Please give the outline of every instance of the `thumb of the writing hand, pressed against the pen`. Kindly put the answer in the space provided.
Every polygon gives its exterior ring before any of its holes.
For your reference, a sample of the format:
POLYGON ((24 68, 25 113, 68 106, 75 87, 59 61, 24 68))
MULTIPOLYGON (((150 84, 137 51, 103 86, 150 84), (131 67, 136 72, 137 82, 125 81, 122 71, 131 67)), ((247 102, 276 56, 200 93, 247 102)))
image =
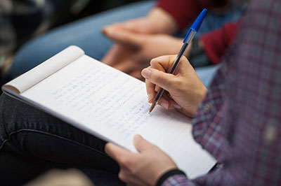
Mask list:
POLYGON ((158 71, 157 69, 145 68, 141 71, 143 78, 149 80, 151 83, 162 87, 164 90, 171 90, 172 85, 174 85, 175 76, 171 73, 164 73, 163 71, 158 71))

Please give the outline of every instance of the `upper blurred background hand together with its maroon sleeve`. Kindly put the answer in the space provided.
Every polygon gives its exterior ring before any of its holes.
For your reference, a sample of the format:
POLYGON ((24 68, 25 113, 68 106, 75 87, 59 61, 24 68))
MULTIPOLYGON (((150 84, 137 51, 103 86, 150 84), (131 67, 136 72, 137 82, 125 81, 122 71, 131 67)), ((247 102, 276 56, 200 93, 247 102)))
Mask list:
POLYGON ((110 27, 122 27, 143 34, 175 34, 179 29, 185 29, 203 8, 223 7, 228 0, 220 3, 214 0, 159 0, 156 6, 145 17, 128 20, 110 27))

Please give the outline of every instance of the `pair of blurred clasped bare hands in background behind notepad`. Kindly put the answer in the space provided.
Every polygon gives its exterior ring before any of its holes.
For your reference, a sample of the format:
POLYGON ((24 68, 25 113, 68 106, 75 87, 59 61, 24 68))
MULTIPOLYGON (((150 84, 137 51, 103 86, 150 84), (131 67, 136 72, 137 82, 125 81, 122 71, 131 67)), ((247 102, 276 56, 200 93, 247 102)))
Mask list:
POLYGON ((177 30, 174 18, 161 8, 153 8, 146 17, 109 25, 103 33, 115 44, 102 62, 143 80, 141 70, 150 59, 181 49, 182 39, 170 36, 177 30))

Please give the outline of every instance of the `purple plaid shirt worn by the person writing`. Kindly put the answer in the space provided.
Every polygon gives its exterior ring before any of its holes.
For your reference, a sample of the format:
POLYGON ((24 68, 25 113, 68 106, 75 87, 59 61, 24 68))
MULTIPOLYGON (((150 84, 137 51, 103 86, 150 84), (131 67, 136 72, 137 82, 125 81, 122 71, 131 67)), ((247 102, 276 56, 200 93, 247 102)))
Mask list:
POLYGON ((221 169, 162 185, 281 185, 281 1, 253 0, 193 119, 221 169))

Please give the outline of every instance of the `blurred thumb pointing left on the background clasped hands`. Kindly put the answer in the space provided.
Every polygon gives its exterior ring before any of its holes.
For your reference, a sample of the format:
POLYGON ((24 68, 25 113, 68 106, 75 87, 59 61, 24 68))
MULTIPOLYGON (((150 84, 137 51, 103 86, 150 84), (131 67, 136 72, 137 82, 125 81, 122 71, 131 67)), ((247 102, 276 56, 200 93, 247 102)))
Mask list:
POLYGON ((141 45, 141 34, 136 34, 128 29, 107 27, 103 33, 113 41, 130 45, 141 45))

